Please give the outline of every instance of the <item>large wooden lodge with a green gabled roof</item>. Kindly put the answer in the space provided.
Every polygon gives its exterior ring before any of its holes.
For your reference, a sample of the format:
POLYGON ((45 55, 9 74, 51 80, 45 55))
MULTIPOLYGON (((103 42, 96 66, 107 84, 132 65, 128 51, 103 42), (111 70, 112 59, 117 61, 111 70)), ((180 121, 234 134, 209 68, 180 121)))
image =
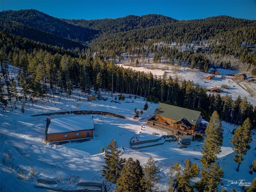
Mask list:
POLYGON ((169 125, 174 129, 196 131, 202 123, 203 114, 200 111, 160 103, 156 108, 155 120, 169 125))

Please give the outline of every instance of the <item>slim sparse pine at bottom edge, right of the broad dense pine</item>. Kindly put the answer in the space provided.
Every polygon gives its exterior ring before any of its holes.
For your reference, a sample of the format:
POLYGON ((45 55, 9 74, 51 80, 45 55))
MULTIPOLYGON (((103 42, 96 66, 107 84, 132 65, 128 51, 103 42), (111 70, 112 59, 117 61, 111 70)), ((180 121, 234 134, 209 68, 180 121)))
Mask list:
POLYGON ((144 188, 146 192, 156 191, 156 182, 160 179, 159 167, 156 166, 156 161, 150 156, 146 162, 144 169, 144 188))

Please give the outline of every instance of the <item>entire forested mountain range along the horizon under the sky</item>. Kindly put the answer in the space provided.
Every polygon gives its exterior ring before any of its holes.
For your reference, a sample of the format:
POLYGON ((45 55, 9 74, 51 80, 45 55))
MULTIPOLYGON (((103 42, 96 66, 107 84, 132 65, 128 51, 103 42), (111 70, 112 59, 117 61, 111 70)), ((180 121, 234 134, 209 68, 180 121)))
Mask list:
MULTIPOLYGON (((37 10, 8 10, 0 12, 0 22, 1 31, 71 50, 76 47, 89 48, 90 52, 100 50, 105 58, 134 49, 142 52, 145 46, 149 51, 159 42, 207 43, 210 53, 239 57, 240 54, 253 52, 244 51, 242 45, 256 44, 256 21, 229 16, 178 21, 148 14, 116 19, 68 20, 54 18, 37 10)), ((161 50, 161 54, 167 53, 161 50)), ((255 59, 244 60, 255 65, 255 59)))

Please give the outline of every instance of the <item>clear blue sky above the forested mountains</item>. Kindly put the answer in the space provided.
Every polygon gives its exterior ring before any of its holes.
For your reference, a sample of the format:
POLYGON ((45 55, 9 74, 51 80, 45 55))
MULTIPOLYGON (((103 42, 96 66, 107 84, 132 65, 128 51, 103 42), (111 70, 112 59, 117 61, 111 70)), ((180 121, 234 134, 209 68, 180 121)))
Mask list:
POLYGON ((226 15, 256 20, 256 0, 0 0, 0 11, 36 9, 56 18, 161 14, 178 20, 226 15))

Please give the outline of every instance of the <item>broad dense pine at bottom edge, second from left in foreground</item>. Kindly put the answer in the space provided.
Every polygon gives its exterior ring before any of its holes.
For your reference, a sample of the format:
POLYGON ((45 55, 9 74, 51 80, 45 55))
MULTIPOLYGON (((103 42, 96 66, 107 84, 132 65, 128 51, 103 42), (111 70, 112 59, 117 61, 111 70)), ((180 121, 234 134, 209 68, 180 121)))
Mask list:
POLYGON ((143 171, 138 160, 129 158, 118 178, 116 192, 144 192, 143 171))

